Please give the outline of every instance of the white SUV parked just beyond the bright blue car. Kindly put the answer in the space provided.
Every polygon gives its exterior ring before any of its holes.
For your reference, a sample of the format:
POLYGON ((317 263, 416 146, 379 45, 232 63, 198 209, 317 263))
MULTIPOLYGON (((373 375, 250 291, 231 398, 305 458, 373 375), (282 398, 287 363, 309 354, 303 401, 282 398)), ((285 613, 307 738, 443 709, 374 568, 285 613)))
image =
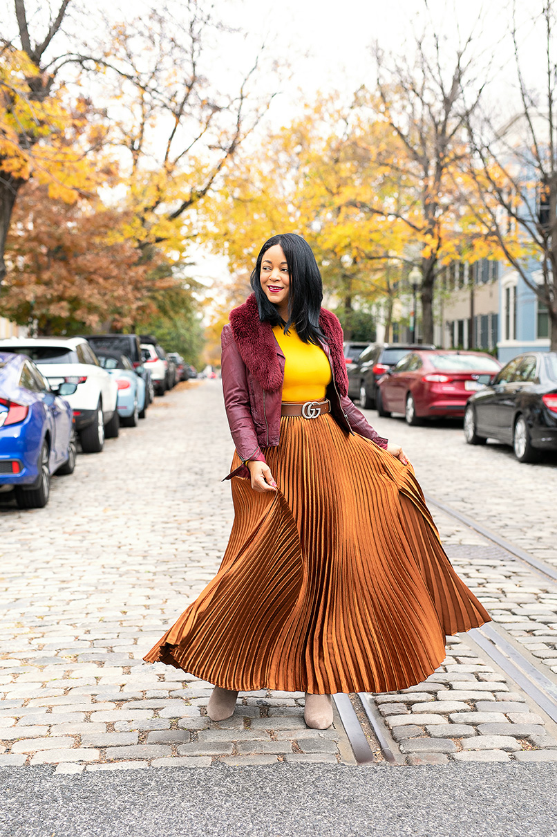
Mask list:
POLYGON ((0 340, 0 351, 27 355, 54 386, 77 384, 75 393, 64 398, 74 411, 84 453, 99 453, 105 436, 118 435, 118 385, 83 337, 9 337, 0 340))

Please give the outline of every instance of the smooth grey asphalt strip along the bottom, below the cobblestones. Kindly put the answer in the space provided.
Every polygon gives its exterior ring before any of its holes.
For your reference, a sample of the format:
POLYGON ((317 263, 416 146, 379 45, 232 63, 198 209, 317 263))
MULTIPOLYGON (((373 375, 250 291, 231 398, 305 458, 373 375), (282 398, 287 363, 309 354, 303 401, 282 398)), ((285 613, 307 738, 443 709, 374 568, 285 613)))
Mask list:
POLYGON ((0 771, 9 837, 552 837, 557 765, 0 771))

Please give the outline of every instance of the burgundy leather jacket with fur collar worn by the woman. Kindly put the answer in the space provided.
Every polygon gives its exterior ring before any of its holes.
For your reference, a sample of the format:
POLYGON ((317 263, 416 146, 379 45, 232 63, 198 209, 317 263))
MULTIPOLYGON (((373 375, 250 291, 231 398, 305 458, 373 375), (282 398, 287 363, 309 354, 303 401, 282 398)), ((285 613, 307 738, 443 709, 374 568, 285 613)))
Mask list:
MULTIPOLYGON (((319 315, 327 342, 319 345, 329 358, 332 382, 327 388, 331 413, 348 433, 358 433, 386 448, 383 439, 365 420, 347 396, 348 377, 343 352, 343 334, 334 314, 319 315)), ((230 313, 222 329, 222 390, 228 424, 240 460, 265 461, 262 448, 279 444, 284 354, 272 326, 259 320, 255 296, 230 313)), ((309 419, 310 420, 310 419, 309 419)), ((249 476, 243 464, 227 476, 249 476)))

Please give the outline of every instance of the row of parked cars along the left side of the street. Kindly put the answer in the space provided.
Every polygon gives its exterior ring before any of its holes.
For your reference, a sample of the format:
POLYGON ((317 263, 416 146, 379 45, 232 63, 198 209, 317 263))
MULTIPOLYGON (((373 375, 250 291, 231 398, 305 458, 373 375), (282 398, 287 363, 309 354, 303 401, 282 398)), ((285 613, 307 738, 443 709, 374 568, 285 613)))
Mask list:
POLYGON ((0 340, 0 491, 14 490, 20 508, 49 500, 50 477, 71 474, 77 441, 100 453, 120 425, 146 418, 155 391, 163 395, 192 376, 177 355, 151 336, 105 334, 0 340), (164 365, 151 377, 142 346, 164 365), (176 361, 179 361, 176 363, 176 361), (162 382, 162 383, 161 383, 162 382))

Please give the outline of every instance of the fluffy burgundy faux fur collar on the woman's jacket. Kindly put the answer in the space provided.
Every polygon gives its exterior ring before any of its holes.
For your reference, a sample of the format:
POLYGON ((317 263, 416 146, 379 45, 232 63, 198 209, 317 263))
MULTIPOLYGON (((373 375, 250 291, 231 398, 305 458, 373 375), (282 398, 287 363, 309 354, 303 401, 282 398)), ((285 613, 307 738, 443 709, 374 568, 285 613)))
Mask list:
MULTIPOLYGON (((280 368, 277 352, 279 344, 274 338, 273 328, 268 322, 259 320, 258 304, 255 295, 248 296, 242 306, 230 312, 230 326, 238 352, 253 377, 268 393, 273 393, 283 385, 283 372, 280 368)), ((335 372, 335 383, 340 395, 348 393, 343 334, 340 322, 330 311, 322 308, 319 313, 319 326, 327 338, 330 359, 335 372)))

